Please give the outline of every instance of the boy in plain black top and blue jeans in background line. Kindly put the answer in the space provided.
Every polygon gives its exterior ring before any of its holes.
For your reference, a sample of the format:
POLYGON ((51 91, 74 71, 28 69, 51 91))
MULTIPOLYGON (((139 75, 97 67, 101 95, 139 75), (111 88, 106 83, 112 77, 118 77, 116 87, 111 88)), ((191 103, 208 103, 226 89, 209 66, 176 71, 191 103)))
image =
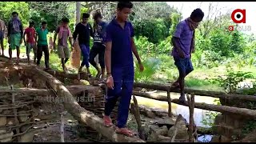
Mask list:
POLYGON ((90 18, 90 14, 82 14, 82 22, 79 22, 77 26, 75 26, 73 38, 74 42, 78 36, 78 43, 82 52, 82 63, 78 69, 78 73, 82 72, 82 67, 86 65, 87 74, 90 76, 89 70, 89 54, 90 54, 90 36, 94 36, 94 32, 90 23, 88 22, 90 18))

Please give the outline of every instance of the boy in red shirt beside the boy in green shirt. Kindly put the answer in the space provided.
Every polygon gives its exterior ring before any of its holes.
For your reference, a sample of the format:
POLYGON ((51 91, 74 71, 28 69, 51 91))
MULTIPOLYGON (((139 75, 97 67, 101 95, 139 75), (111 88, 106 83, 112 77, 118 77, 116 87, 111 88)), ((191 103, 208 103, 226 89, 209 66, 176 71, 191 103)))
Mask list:
POLYGON ((33 48, 34 64, 35 64, 36 58, 37 58, 37 50, 36 50, 36 46, 35 46, 36 34, 35 34, 35 30, 34 30, 34 22, 30 22, 30 26, 28 28, 26 28, 23 38, 24 38, 24 43, 26 46, 27 62, 28 62, 28 64, 30 64, 30 50, 31 50, 31 48, 33 48))

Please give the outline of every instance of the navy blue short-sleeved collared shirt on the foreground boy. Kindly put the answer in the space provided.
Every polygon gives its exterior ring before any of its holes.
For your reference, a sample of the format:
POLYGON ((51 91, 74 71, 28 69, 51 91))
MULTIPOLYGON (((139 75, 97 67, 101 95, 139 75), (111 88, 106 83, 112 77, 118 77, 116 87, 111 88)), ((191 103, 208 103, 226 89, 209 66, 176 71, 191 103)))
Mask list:
POLYGON ((134 66, 131 49, 131 37, 134 37, 134 27, 130 22, 125 22, 124 29, 116 19, 106 27, 104 42, 112 42, 111 67, 134 66))

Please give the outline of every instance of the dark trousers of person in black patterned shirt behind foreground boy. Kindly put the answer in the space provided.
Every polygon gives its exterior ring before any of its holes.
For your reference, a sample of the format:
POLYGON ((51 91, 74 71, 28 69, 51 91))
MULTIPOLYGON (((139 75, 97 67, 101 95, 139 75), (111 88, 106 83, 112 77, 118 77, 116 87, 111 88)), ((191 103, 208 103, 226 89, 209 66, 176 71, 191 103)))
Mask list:
POLYGON ((98 62, 100 66, 102 67, 102 69, 105 69, 105 62, 104 62, 105 46, 99 42, 95 42, 94 46, 90 49, 89 62, 94 67, 97 66, 96 62, 94 61, 94 58, 97 56, 97 54, 98 54, 98 62))

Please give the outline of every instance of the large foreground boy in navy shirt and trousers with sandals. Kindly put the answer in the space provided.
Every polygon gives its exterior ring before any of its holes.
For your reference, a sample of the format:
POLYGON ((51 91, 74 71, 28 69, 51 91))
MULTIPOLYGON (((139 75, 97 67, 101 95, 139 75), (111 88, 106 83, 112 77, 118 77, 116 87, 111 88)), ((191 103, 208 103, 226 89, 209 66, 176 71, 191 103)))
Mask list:
POLYGON ((133 53, 138 60, 140 70, 144 69, 134 44, 134 27, 127 22, 132 7, 131 2, 118 2, 117 16, 106 27, 105 38, 106 86, 108 90, 103 121, 105 126, 112 126, 110 113, 114 109, 118 97, 121 97, 116 132, 127 136, 134 135, 126 128, 130 98, 134 87, 133 53))

